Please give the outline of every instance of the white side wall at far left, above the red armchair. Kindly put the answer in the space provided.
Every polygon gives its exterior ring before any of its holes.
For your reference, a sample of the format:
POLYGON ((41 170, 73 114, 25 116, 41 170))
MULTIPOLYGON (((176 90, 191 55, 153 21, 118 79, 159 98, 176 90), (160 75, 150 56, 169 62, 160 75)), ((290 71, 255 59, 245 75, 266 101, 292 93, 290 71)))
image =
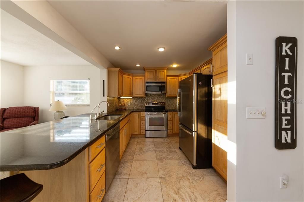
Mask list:
POLYGON ((23 106, 23 67, 1 60, 1 107, 23 106))

